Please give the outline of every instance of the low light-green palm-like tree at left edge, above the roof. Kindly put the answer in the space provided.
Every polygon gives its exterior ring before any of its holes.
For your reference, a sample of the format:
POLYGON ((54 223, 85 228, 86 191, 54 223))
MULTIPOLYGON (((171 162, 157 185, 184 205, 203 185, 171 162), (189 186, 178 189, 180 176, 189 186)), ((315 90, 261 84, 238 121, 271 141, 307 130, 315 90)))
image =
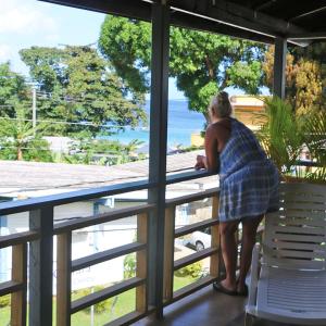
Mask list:
POLYGON ((51 162, 49 145, 41 138, 47 126, 33 128, 21 103, 15 103, 14 111, 15 117, 0 117, 0 159, 51 162))

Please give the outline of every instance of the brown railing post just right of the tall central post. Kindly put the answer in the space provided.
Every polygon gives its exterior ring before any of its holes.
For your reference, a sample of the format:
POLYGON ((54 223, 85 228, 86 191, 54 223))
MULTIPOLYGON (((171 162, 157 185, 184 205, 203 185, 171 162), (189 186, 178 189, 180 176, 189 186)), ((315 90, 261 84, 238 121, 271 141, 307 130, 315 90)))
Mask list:
POLYGON ((163 300, 173 299, 175 206, 165 210, 163 300))

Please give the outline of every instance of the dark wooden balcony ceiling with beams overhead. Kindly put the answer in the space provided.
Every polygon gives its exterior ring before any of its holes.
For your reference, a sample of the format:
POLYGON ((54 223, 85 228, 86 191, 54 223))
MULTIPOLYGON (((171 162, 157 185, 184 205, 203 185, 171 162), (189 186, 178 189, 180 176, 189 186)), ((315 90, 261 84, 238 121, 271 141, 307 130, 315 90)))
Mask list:
MULTIPOLYGON (((152 0, 41 0, 150 21, 152 0)), ((176 26, 274 42, 285 37, 304 46, 326 38, 326 0, 171 0, 176 26)))

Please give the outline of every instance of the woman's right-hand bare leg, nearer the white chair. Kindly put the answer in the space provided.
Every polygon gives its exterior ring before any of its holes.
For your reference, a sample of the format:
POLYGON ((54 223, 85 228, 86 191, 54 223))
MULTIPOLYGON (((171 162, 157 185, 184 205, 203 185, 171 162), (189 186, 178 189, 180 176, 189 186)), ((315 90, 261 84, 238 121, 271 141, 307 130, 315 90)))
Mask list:
POLYGON ((240 273, 238 278, 237 290, 244 290, 246 276, 251 265, 252 249, 255 243, 256 229, 263 220, 263 215, 254 218, 243 218, 242 222, 242 242, 240 256, 240 273))

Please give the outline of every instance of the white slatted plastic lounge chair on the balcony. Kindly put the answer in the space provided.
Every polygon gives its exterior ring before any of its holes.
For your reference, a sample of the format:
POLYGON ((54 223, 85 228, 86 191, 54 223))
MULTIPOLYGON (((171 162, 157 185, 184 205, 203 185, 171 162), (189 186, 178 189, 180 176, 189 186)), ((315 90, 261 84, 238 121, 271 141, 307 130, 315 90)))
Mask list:
POLYGON ((246 326, 254 317, 326 325, 326 186, 280 185, 280 210, 265 218, 252 254, 246 326))

